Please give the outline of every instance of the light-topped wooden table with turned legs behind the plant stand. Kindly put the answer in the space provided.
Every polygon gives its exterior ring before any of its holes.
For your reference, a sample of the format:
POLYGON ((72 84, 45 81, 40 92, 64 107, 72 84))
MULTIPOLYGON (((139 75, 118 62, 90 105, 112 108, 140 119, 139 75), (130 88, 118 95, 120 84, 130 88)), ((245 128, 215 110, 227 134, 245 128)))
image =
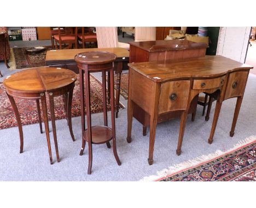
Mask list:
MULTIPOLYGON (((74 71, 79 74, 77 62, 74 57, 78 53, 91 52, 91 51, 106 51, 117 55, 117 59, 114 60, 114 70, 117 73, 117 93, 115 102, 115 118, 118 118, 119 112, 119 97, 120 97, 120 84, 121 73, 123 69, 127 68, 129 62, 129 51, 125 48, 80 48, 80 49, 64 49, 64 50, 50 50, 46 52, 46 65, 57 68, 65 68, 74 71)), ((110 82, 108 72, 108 103, 110 102, 110 82)))

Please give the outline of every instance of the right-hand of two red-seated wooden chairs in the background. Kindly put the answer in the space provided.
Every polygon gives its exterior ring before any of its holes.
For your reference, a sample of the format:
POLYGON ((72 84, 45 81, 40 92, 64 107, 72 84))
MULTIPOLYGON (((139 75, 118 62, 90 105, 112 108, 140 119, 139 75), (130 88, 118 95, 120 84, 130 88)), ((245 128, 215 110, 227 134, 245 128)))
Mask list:
POLYGON ((94 42, 94 47, 97 47, 97 35, 93 32, 94 27, 88 27, 88 30, 85 30, 85 27, 82 27, 82 33, 78 33, 78 27, 75 27, 75 33, 77 34, 78 40, 82 42, 83 48, 85 48, 86 42, 94 42))

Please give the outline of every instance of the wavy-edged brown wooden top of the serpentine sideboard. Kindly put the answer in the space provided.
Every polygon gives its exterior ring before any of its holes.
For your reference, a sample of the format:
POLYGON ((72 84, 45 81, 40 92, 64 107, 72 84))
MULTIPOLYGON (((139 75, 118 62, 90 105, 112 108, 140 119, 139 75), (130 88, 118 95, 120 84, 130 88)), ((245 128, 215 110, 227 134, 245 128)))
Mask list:
POLYGON ((211 78, 227 72, 253 69, 253 66, 236 62, 222 56, 205 56, 183 60, 143 62, 128 64, 133 70, 154 82, 165 82, 181 78, 211 78))

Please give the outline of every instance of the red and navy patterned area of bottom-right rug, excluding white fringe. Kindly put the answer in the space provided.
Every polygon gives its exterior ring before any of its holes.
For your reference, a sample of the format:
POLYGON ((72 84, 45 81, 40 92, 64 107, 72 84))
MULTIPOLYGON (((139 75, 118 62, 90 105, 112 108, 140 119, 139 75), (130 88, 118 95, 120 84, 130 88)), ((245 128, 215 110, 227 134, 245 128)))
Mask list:
POLYGON ((256 141, 158 181, 256 181, 256 141))

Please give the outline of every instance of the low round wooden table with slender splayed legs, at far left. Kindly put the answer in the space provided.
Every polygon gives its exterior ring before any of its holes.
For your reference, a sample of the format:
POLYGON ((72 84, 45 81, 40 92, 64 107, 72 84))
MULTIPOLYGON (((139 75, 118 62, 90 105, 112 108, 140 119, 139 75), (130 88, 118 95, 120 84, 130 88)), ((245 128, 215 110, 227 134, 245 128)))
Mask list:
POLYGON ((16 106, 16 103, 14 101, 14 97, 36 100, 40 132, 43 133, 42 119, 40 116, 40 105, 39 105, 39 100, 41 100, 43 117, 44 117, 44 125, 45 125, 45 133, 46 133, 46 139, 48 143, 48 150, 49 150, 49 156, 50 156, 50 163, 53 164, 53 157, 51 155, 46 96, 45 96, 45 94, 48 93, 49 100, 50 100, 51 123, 53 125, 56 156, 57 156, 57 161, 60 162, 59 150, 57 145, 56 126, 55 126, 54 97, 60 96, 60 95, 63 96, 63 100, 65 101, 65 109, 67 114, 69 132, 71 133, 71 137, 74 141, 72 122, 71 122, 71 106, 72 106, 73 89, 74 89, 76 79, 77 79, 77 75, 71 70, 62 69, 62 68, 48 68, 48 67, 27 69, 24 71, 16 72, 15 74, 7 76, 7 78, 4 79, 3 84, 6 89, 7 96, 9 97, 9 100, 11 102, 11 106, 13 106, 15 117, 19 127, 20 153, 23 152, 23 144, 24 144, 23 131, 22 131, 22 125, 20 120, 20 114, 16 106))

